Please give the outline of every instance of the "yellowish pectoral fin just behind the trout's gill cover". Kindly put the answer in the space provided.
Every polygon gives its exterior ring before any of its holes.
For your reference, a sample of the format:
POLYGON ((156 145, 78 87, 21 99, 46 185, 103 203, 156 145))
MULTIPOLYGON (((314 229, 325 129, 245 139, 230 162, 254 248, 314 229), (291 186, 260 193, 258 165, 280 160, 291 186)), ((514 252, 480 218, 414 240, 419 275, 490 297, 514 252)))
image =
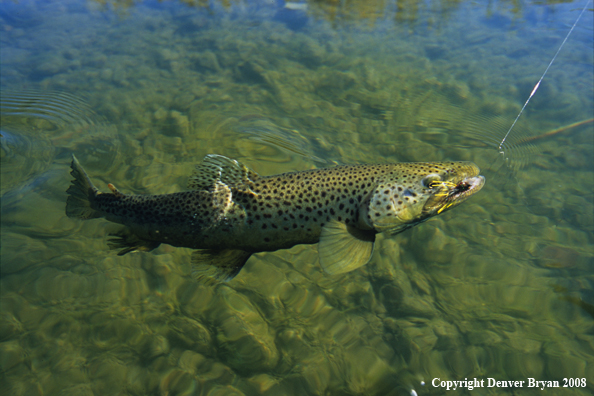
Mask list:
POLYGON ((371 259, 374 241, 375 233, 332 220, 322 228, 320 235, 320 265, 331 275, 357 269, 371 259))

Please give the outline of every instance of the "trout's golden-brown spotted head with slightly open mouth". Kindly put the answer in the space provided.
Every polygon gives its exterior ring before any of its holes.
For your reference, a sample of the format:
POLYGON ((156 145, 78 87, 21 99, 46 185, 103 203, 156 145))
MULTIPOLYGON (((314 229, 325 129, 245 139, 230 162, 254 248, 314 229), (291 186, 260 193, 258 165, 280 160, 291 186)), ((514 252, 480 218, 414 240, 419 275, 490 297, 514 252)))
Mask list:
POLYGON ((400 163, 384 173, 359 211, 362 228, 397 234, 445 212, 485 184, 472 162, 400 163))

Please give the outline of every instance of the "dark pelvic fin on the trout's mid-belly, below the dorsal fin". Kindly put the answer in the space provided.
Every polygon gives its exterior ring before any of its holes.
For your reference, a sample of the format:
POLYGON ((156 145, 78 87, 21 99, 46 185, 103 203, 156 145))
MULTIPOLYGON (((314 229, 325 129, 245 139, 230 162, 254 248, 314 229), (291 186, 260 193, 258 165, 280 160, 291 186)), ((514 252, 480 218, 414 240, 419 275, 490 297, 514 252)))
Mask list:
POLYGON ((251 255, 245 250, 196 250, 192 253, 192 276, 196 279, 211 277, 229 281, 241 271, 251 255))

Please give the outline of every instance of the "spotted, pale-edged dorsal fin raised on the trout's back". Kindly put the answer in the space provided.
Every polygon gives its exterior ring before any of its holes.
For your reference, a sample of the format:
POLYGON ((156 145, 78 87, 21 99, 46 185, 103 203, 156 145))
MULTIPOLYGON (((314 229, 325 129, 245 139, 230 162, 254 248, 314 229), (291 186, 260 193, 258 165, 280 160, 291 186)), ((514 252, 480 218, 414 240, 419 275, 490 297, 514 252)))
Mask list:
POLYGON ((250 185, 259 178, 260 175, 236 160, 222 155, 209 154, 196 167, 188 182, 188 188, 190 190, 212 190, 217 181, 228 186, 250 185))

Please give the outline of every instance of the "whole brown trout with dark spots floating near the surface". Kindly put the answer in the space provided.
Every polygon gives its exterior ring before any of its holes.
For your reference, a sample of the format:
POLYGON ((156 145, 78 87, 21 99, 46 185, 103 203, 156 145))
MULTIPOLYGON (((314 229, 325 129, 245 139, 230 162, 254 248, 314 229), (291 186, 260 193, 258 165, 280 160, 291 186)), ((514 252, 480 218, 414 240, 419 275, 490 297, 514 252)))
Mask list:
POLYGON ((344 165, 260 176, 243 164, 207 155, 189 191, 128 195, 95 188, 72 156, 66 214, 104 217, 125 226, 109 244, 150 251, 161 243, 196 250, 196 277, 230 280, 250 255, 318 243, 329 274, 365 265, 375 235, 397 234, 478 192, 485 179, 471 162, 344 165))

